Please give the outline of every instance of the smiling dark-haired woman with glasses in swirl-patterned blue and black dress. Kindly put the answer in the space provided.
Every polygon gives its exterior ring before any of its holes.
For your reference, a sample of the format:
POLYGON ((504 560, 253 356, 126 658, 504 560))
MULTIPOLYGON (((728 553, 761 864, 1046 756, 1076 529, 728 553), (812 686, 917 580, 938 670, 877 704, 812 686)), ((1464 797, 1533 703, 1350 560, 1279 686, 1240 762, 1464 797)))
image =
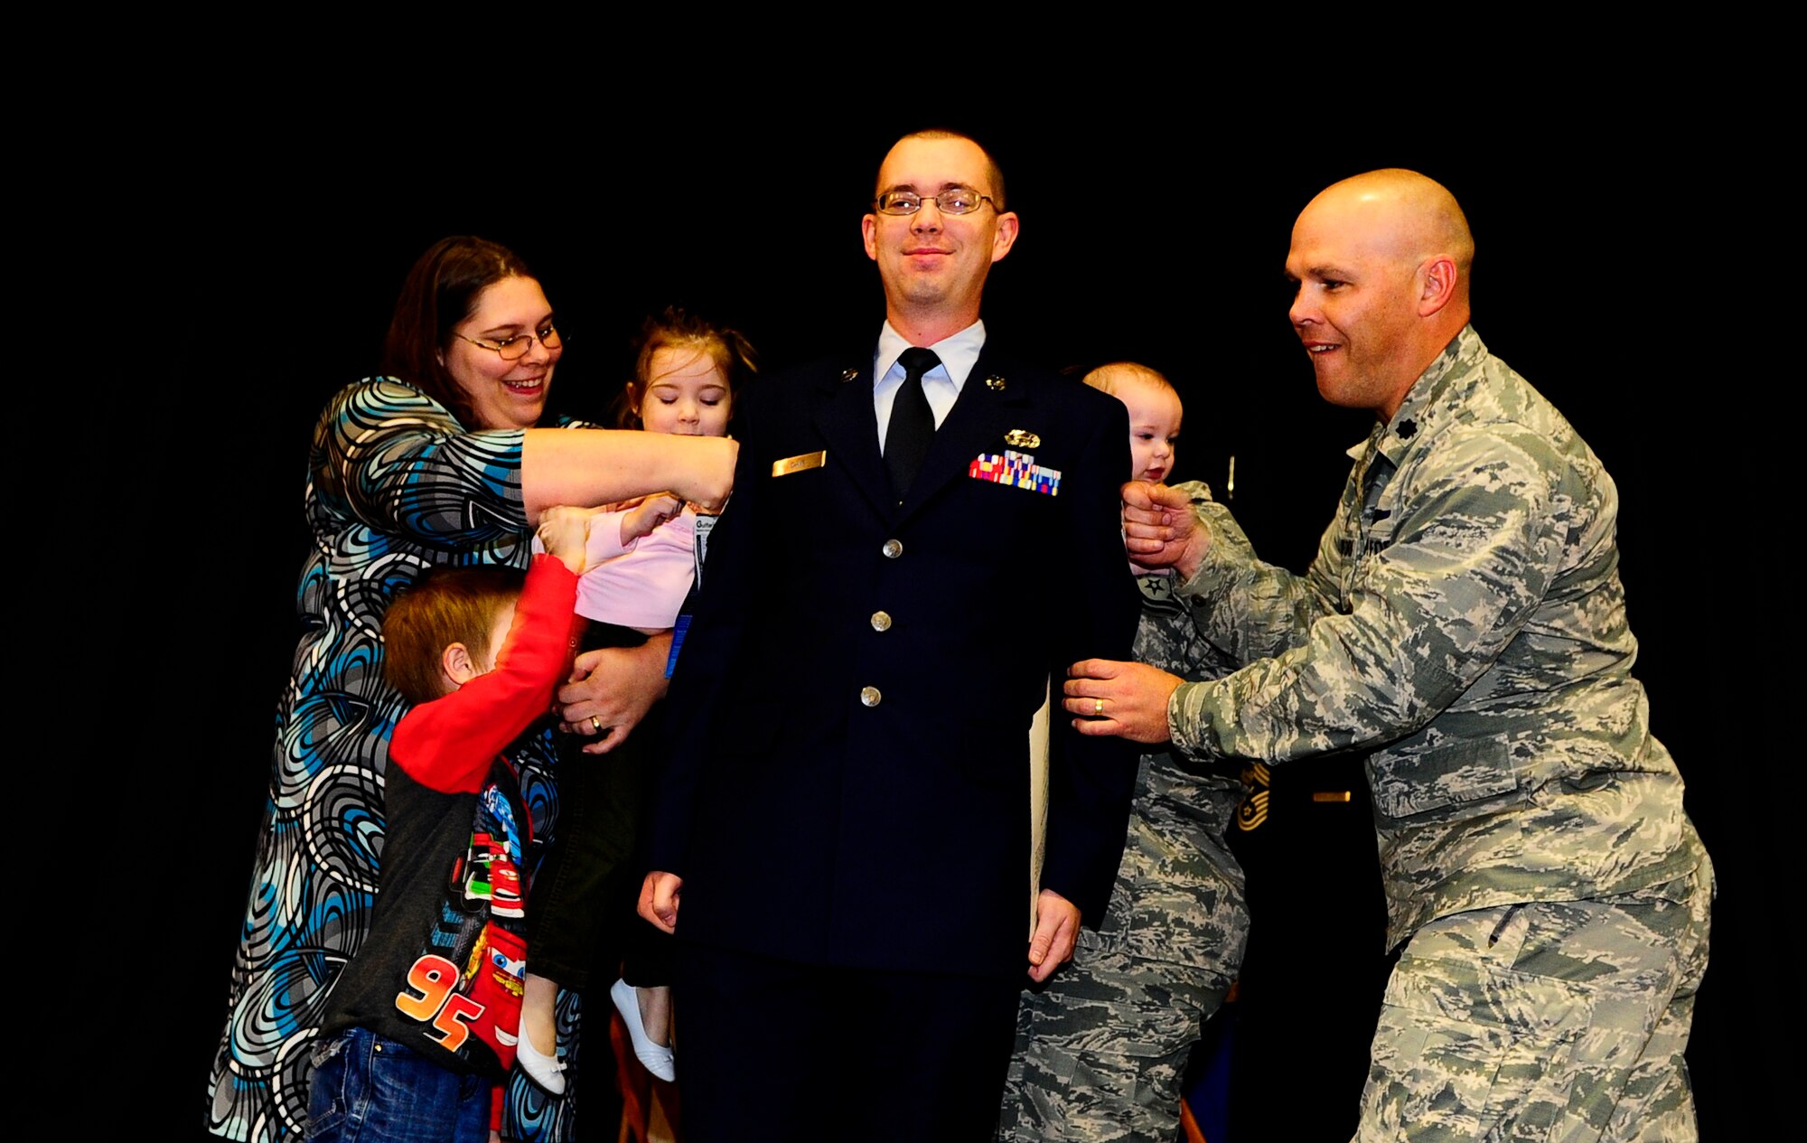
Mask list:
MULTIPOLYGON (((309 450, 304 635, 276 711, 267 817, 213 1063, 208 1125, 231 1138, 298 1139, 309 1047, 327 991, 369 928, 383 843, 381 772, 403 713, 383 680, 389 600, 437 564, 524 568, 553 505, 654 490, 719 505, 734 443, 540 427, 564 353, 538 280, 510 250, 472 237, 414 264, 383 371, 327 401, 309 450)), ((548 743, 520 779, 533 836, 557 819, 548 743)), ((519 1076, 517 1119, 562 1138, 567 1107, 519 1076)))

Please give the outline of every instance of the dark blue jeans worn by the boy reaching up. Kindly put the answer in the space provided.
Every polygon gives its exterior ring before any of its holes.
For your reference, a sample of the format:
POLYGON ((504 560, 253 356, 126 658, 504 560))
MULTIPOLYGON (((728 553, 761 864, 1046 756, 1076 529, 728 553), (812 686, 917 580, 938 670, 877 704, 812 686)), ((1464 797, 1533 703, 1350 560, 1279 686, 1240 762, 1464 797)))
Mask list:
POLYGON ((488 1143, 493 1085, 351 1027, 314 1045, 307 1141, 488 1143))

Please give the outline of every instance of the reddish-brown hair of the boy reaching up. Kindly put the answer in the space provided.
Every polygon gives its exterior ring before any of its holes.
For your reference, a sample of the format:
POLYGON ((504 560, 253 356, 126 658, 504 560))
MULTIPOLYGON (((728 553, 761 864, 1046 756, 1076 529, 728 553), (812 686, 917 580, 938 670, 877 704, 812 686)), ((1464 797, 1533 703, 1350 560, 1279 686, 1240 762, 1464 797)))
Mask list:
POLYGON ((389 604, 383 617, 383 676, 412 704, 446 694, 445 649, 464 644, 490 655, 497 613, 520 599, 526 572, 515 568, 435 568, 389 604))

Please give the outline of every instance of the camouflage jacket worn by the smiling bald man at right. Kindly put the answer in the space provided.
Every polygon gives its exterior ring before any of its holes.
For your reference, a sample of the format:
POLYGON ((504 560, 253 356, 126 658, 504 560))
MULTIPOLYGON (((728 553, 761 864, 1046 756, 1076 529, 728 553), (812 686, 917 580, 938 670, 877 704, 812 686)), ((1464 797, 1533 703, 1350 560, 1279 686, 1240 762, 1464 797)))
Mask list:
POLYGON ((1173 742, 1283 763, 1366 751, 1388 946, 1426 921, 1693 868, 1682 779, 1632 678, 1599 458, 1465 327, 1355 468, 1303 577, 1229 512, 1180 586, 1241 671, 1184 684, 1173 742))

